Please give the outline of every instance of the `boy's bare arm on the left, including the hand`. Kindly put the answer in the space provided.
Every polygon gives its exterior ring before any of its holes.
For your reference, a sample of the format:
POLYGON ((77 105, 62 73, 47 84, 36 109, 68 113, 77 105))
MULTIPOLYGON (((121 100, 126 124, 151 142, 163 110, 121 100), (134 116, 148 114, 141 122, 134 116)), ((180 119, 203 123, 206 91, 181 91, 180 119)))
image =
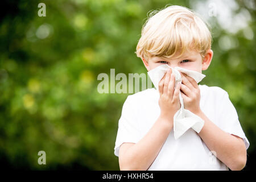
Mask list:
POLYGON ((159 82, 160 116, 138 143, 123 143, 119 150, 121 170, 147 170, 154 162, 174 125, 174 114, 180 108, 180 85, 175 85, 175 77, 170 69, 159 82))

